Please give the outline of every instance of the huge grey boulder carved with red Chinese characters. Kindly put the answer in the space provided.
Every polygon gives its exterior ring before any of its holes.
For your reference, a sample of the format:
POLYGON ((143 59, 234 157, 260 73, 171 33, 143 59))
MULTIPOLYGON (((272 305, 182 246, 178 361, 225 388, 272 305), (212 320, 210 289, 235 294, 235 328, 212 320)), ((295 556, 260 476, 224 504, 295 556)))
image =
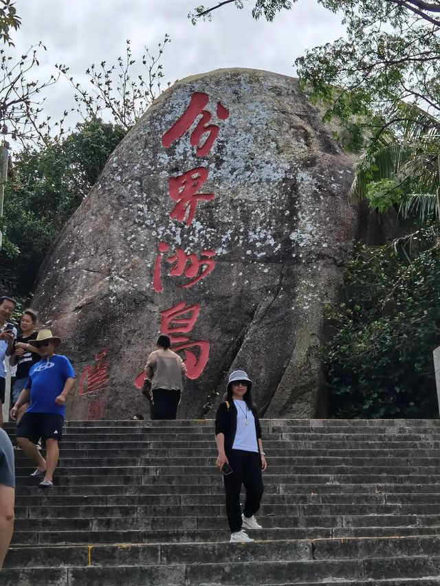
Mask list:
POLYGON ((266 417, 320 415, 322 305, 359 229, 351 180, 293 78, 226 69, 164 92, 40 273, 34 305, 78 375, 68 416, 145 412, 133 381, 159 330, 192 376, 179 417, 212 413, 236 368, 266 417))

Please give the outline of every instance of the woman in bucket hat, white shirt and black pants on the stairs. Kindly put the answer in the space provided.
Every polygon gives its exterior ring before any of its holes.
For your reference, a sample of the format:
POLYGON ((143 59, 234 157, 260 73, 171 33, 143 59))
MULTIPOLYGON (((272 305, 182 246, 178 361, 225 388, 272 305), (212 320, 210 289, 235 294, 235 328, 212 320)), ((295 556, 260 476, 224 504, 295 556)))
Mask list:
POLYGON ((244 370, 230 374, 225 401, 215 417, 215 437, 219 455, 216 466, 223 471, 226 513, 231 542, 254 541, 245 529, 261 529, 254 515, 263 496, 261 472, 267 468, 259 417, 252 401, 252 381, 244 370), (241 513, 241 485, 246 502, 241 513))

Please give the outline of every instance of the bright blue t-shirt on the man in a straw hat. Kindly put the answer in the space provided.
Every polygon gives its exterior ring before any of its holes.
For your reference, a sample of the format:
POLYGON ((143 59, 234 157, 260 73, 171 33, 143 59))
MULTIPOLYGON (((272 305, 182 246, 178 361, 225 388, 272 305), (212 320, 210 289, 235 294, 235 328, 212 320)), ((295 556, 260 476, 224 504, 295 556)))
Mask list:
POLYGON ((43 358, 34 364, 26 383, 26 388, 30 389, 30 407, 26 413, 56 413, 64 416, 65 405, 56 405, 55 399, 70 378, 75 378, 74 367, 61 354, 43 358))

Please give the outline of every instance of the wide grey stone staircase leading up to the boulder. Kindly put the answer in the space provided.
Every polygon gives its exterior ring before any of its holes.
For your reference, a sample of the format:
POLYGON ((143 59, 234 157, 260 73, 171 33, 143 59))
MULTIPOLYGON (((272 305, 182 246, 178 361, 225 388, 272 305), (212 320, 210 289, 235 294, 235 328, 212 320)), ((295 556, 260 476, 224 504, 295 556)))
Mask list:
POLYGON ((70 421, 50 491, 17 450, 1 586, 440 585, 440 420, 262 428, 246 544, 228 543, 212 421, 70 421))

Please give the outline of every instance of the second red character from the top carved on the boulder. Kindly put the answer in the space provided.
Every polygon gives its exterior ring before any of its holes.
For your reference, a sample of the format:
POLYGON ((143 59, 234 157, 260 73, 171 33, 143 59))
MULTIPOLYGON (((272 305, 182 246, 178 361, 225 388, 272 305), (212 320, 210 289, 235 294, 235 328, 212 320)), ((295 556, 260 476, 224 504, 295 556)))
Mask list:
POLYGON ((186 171, 183 175, 168 179, 168 193, 171 199, 177 202, 173 210, 170 211, 170 218, 183 222, 188 212, 186 225, 189 226, 192 223, 197 202, 214 199, 213 193, 197 193, 200 185, 203 185, 206 179, 208 179, 208 171, 203 167, 197 167, 186 171))

